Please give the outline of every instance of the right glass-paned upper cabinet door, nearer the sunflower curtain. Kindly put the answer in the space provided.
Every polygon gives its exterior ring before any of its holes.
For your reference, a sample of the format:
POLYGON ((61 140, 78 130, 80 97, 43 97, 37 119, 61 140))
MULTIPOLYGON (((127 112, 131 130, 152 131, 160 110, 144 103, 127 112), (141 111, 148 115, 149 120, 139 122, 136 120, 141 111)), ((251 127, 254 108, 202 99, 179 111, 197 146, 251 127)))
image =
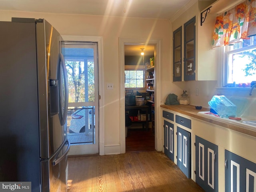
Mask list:
POLYGON ((195 80, 196 17, 184 24, 184 81, 195 80))

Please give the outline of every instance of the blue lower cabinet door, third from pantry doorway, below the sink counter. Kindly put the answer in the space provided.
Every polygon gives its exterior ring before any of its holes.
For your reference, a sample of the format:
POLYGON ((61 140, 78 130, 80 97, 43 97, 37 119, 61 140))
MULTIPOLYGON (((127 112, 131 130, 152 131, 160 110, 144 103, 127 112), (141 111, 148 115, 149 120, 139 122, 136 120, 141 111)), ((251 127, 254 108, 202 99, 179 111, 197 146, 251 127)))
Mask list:
POLYGON ((196 136, 196 183, 207 192, 218 191, 218 146, 196 136))

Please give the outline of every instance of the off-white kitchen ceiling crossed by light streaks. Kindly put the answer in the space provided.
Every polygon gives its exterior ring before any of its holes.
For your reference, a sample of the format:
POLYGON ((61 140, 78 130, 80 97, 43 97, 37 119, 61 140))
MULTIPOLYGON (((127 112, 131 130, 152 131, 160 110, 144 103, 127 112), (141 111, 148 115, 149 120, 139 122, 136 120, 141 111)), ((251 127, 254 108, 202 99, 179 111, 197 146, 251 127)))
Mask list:
POLYGON ((170 19, 190 1, 191 0, 0 0, 0 10, 170 19))

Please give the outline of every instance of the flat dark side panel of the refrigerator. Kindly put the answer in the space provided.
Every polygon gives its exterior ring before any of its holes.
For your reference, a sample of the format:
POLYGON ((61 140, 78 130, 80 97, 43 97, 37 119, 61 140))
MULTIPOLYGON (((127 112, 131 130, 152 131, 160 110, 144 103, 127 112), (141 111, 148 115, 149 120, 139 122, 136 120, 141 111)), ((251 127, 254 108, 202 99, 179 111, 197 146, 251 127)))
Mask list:
POLYGON ((35 23, 0 22, 0 181, 40 191, 35 23))

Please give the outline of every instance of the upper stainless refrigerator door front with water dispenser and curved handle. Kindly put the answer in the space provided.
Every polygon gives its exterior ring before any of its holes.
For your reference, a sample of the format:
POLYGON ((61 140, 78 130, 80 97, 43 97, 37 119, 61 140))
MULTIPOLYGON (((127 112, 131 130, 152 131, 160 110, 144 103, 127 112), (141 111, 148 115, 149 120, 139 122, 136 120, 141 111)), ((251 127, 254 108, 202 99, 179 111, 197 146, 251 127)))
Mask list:
POLYGON ((66 140, 68 93, 60 54, 61 36, 46 20, 36 24, 41 159, 52 158, 66 140))

